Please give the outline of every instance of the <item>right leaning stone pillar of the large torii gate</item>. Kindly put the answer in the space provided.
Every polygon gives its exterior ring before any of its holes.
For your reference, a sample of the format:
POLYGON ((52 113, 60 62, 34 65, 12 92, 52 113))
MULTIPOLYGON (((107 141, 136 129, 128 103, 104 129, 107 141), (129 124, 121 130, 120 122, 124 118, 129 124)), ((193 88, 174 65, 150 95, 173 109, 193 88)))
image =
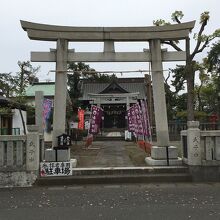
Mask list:
POLYGON ((168 146, 169 133, 160 40, 150 41, 150 51, 157 144, 168 146))

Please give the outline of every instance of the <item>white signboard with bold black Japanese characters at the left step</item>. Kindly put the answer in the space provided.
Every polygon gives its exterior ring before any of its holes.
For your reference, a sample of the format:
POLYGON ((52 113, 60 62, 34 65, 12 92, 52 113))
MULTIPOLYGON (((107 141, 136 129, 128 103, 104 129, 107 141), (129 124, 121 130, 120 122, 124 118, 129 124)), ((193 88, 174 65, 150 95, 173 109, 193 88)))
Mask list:
POLYGON ((40 163, 41 177, 71 176, 72 165, 70 162, 42 162, 40 163))

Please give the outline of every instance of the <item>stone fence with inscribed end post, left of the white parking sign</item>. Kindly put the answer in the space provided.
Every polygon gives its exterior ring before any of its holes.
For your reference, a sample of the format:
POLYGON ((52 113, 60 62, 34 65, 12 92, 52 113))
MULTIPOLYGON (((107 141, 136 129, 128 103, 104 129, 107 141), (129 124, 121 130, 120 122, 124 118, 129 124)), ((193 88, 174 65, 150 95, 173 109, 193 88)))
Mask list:
POLYGON ((2 135, 0 139, 0 187, 32 186, 39 175, 42 135, 2 135))

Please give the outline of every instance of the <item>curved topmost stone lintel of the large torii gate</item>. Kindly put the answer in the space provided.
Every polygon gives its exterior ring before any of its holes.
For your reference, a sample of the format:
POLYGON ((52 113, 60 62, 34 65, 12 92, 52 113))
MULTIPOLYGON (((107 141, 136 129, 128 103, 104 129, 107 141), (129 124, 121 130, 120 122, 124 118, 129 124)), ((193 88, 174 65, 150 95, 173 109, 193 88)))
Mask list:
POLYGON ((32 40, 56 41, 148 41, 153 39, 180 40, 187 38, 195 21, 148 27, 71 27, 20 21, 32 40))

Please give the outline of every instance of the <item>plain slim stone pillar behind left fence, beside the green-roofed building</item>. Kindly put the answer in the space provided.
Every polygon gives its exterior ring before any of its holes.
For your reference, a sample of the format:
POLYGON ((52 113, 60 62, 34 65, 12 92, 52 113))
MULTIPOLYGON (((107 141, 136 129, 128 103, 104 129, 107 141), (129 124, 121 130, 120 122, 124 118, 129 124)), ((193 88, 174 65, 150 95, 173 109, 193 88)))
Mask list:
POLYGON ((35 92, 35 124, 39 128, 39 132, 43 133, 43 101, 44 93, 42 91, 35 92))

